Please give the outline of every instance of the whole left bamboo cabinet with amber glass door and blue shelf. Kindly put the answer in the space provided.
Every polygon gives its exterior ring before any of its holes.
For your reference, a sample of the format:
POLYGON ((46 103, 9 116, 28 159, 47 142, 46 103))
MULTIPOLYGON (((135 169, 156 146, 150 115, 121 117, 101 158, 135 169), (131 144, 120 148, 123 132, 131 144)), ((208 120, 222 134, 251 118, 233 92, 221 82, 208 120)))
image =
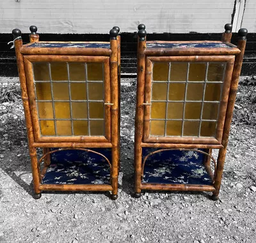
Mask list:
POLYGON ((40 42, 13 29, 35 198, 41 191, 112 191, 117 198, 120 36, 40 42), (119 66, 119 67, 118 67, 119 66), (38 148, 43 149, 38 157, 38 148))

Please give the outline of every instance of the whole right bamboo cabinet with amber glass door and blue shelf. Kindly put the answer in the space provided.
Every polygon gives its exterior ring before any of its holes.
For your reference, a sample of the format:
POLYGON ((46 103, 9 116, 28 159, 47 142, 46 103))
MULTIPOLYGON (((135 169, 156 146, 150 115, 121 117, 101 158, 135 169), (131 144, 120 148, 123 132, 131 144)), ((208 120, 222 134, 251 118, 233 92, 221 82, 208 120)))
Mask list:
POLYGON ((211 191, 218 200, 247 29, 237 46, 231 24, 222 41, 147 42, 138 29, 135 196, 211 191))

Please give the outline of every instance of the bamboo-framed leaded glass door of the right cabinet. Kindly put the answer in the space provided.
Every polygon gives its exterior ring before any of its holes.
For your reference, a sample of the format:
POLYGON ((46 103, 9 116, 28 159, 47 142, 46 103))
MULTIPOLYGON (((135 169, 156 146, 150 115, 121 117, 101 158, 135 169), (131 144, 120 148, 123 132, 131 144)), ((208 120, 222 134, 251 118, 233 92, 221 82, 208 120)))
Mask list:
POLYGON ((234 56, 191 59, 147 58, 144 141, 221 143, 234 56))

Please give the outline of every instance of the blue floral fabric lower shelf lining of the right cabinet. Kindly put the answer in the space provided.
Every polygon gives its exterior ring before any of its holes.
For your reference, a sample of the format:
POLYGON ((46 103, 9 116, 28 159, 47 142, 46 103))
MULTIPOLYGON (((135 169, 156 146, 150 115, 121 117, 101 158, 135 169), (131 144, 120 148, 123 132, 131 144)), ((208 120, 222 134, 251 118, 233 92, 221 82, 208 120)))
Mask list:
MULTIPOLYGON (((161 148, 143 148, 142 161, 148 153, 161 148)), ((193 150, 168 150, 150 155, 145 162, 142 183, 212 185, 204 167, 205 156, 193 150)))

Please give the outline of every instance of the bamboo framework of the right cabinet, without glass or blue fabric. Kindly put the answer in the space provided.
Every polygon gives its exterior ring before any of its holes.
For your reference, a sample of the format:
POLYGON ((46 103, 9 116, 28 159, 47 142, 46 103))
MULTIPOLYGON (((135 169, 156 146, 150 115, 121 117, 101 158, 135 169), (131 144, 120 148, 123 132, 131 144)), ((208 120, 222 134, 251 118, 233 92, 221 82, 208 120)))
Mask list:
MULTIPOLYGON (((232 26, 231 26, 232 28, 232 26)), ((225 26, 225 33, 221 41, 217 43, 226 43, 227 48, 147 48, 147 43, 210 43, 215 41, 186 41, 186 42, 164 42, 164 41, 145 41, 143 31, 138 35, 138 82, 137 82, 137 103, 136 103, 136 127, 135 127, 135 148, 134 148, 134 173, 135 173, 135 196, 139 197, 141 190, 162 190, 162 191, 211 191, 212 200, 218 200, 220 192, 221 176, 227 153, 228 134, 234 102, 236 99, 239 74, 243 62, 244 49, 246 45, 246 29, 239 30, 240 40, 237 47, 230 43, 232 33, 230 24, 225 26), (150 105, 151 105, 151 87, 152 87, 152 62, 225 62, 225 78, 223 81, 223 91, 221 93, 220 108, 218 113, 218 126, 216 137, 159 137, 150 136, 150 105), (191 185, 191 184, 152 184, 142 183, 139 174, 142 175, 143 167, 148 155, 145 155, 143 162, 142 148, 159 148, 162 150, 195 150, 204 148, 207 153, 203 165, 208 175, 212 179, 212 185, 191 185), (211 170, 210 161, 212 149, 219 149, 219 155, 214 171, 211 170)))

